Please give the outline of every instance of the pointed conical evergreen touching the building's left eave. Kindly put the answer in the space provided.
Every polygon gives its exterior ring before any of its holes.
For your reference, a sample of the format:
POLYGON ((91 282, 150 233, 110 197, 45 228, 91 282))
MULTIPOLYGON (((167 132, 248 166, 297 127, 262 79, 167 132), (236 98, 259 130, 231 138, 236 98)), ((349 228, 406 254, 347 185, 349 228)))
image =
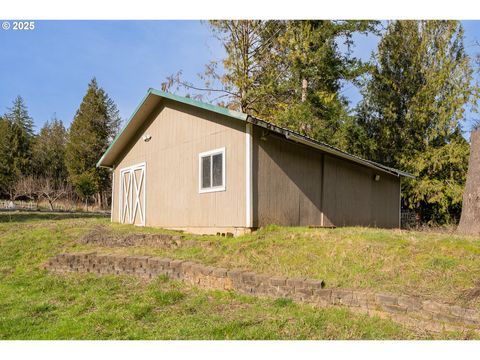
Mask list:
POLYGON ((77 193, 85 197, 94 190, 100 206, 106 205, 110 174, 107 169, 96 168, 96 163, 119 126, 116 105, 93 78, 70 127, 65 158, 70 181, 77 193))

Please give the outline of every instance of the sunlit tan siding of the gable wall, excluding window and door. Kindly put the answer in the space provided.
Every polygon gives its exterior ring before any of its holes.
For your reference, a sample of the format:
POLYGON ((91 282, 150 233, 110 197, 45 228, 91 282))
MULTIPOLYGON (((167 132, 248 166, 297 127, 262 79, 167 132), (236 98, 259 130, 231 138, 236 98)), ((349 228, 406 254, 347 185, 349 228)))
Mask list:
MULTIPOLYGON (((145 121, 115 166, 146 162, 146 225, 245 226, 245 123, 165 100, 145 121), (151 135, 145 142, 143 135, 151 135), (198 191, 198 155, 225 147, 226 190, 198 191)), ((118 193, 114 194, 116 198, 118 193)), ((115 200, 116 200, 115 198, 115 200)), ((114 201, 114 221, 119 220, 114 201)))

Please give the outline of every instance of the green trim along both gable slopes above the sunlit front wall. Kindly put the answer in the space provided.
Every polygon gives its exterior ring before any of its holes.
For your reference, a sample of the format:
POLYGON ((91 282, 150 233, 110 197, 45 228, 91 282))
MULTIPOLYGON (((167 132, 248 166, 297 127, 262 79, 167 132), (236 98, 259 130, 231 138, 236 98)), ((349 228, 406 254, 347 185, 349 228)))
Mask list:
POLYGON ((159 96, 159 97, 164 98, 164 99, 169 99, 169 100, 177 101, 177 102, 180 102, 180 103, 183 103, 183 104, 195 106, 197 108, 205 109, 205 110, 208 110, 208 111, 213 111, 213 112, 216 112, 218 114, 229 116, 229 117, 232 117, 232 118, 235 118, 235 119, 238 119, 238 120, 242 120, 242 121, 246 121, 247 117, 248 117, 247 114, 239 112, 239 111, 230 110, 230 109, 227 109, 227 108, 222 107, 222 106, 212 105, 212 104, 204 103, 202 101, 198 101, 198 100, 195 100, 195 99, 192 99, 192 98, 179 96, 179 95, 171 94, 171 93, 168 93, 168 92, 165 92, 165 91, 160 91, 160 90, 157 90, 157 89, 150 88, 150 89, 148 89, 147 94, 143 97, 142 101, 137 106, 137 108, 135 109, 133 114, 128 119, 125 126, 117 134, 117 136, 115 136, 115 139, 113 139, 110 146, 107 148, 107 150, 105 150, 105 152, 103 153, 100 160, 98 160, 97 165, 96 165, 97 167, 101 166, 101 163, 102 163, 103 159, 105 159, 105 156, 107 156, 107 154, 110 152, 110 150, 115 145, 117 140, 120 138, 120 136, 122 136, 123 132, 128 127, 128 125, 130 124, 132 119, 135 117, 138 110, 142 107, 143 103, 147 100, 147 98, 150 94, 159 96))

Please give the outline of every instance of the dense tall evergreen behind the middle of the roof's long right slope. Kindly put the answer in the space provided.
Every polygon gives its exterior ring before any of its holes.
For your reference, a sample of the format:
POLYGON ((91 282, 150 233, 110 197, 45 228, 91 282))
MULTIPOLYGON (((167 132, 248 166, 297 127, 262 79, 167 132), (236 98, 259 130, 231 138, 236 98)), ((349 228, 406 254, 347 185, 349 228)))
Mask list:
POLYGON ((367 67, 350 51, 342 52, 339 43, 343 39, 350 49, 353 34, 375 33, 377 22, 315 20, 281 25, 269 45, 269 53, 275 56, 262 80, 271 101, 262 103, 262 115, 314 139, 345 147, 349 115, 342 86, 344 81, 355 81, 367 67))

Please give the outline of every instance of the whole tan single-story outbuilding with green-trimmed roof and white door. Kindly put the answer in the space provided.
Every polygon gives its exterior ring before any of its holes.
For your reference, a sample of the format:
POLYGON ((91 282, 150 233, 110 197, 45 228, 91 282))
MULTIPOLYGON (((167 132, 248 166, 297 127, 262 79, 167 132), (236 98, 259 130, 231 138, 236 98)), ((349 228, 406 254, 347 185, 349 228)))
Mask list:
POLYGON ((98 161, 112 221, 239 235, 268 224, 400 226, 400 178, 253 116, 150 89, 98 161))

